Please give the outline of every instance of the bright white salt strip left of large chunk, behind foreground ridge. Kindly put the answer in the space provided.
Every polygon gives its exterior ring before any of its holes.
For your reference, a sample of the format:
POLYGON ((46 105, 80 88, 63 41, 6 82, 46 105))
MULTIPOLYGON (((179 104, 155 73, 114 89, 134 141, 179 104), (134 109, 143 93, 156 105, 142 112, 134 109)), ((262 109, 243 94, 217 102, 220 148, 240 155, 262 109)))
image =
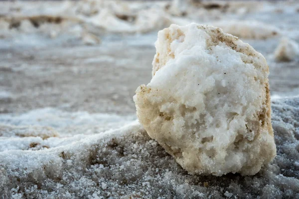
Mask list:
POLYGON ((135 115, 120 116, 88 112, 65 112, 57 108, 40 108, 12 115, 2 113, 0 117, 0 136, 3 137, 56 137, 59 134, 73 136, 90 134, 118 128, 135 120, 135 115), (92 132, 89 132, 92 131, 92 132), (39 132, 40 134, 35 134, 39 132))

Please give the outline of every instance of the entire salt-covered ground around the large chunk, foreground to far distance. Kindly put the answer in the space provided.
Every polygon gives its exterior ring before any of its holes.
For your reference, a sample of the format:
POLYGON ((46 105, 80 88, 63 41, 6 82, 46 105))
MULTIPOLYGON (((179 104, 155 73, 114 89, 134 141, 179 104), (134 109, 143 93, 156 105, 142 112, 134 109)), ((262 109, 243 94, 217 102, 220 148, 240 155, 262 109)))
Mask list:
POLYGON ((97 3, 59 3, 5 2, 0 8, 1 198, 299 198, 299 59, 276 62, 273 55, 282 36, 299 42, 298 3, 259 2, 260 10, 196 5, 198 15, 175 4, 165 11, 168 2, 151 3, 152 9, 133 3, 132 10, 112 3, 101 6, 117 6, 118 13, 97 20, 90 20, 97 3), (49 13, 67 19, 42 18, 49 13), (69 19, 74 16, 80 17, 69 19), (140 20, 128 25, 130 17, 140 20), (134 92, 151 79, 157 30, 219 18, 280 30, 266 39, 241 38, 269 64, 278 150, 274 162, 251 177, 188 175, 138 122, 131 123, 134 92))

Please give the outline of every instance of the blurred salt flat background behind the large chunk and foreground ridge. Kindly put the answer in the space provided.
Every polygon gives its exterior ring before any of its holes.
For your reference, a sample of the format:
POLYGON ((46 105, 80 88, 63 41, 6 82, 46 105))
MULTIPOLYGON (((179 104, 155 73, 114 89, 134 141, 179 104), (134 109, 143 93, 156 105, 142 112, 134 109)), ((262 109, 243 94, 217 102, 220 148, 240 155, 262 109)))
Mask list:
POLYGON ((295 0, 0 1, 0 123, 72 136, 136 119, 132 97, 151 79, 157 31, 172 23, 240 37, 266 57, 272 98, 298 95, 298 19, 295 0))

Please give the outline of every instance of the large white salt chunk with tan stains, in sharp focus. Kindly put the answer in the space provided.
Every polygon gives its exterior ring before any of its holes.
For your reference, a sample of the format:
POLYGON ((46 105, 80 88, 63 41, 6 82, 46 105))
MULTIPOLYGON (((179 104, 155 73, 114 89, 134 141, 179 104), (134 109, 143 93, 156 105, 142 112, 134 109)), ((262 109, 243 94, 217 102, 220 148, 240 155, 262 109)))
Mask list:
POLYGON ((254 175, 276 156, 269 68, 220 28, 158 32, 152 80, 134 101, 140 122, 189 173, 254 175))

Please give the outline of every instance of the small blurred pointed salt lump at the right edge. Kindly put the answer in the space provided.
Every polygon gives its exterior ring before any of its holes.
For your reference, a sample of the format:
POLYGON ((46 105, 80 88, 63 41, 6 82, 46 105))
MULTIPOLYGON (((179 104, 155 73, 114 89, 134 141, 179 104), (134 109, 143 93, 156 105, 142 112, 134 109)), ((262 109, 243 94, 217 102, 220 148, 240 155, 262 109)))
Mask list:
POLYGON ((282 38, 274 56, 277 61, 292 61, 299 56, 299 45, 292 39, 282 38))

